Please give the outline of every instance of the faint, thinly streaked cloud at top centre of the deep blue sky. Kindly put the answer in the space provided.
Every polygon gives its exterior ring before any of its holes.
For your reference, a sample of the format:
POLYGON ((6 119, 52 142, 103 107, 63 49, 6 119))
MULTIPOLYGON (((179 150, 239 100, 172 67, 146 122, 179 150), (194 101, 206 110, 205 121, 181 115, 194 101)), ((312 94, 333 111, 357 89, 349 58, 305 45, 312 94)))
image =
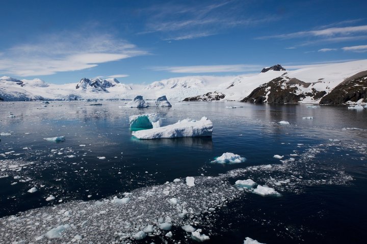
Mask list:
POLYGON ((164 40, 187 40, 228 32, 234 27, 248 27, 277 19, 244 12, 243 1, 165 3, 143 10, 145 31, 139 34, 159 33, 164 40))

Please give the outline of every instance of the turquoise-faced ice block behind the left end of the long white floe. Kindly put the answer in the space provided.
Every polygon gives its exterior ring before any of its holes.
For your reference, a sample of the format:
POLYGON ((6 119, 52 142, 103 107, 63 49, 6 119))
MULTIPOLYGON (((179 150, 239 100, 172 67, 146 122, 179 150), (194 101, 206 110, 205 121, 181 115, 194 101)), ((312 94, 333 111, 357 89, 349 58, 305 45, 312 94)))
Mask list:
POLYGON ((162 126, 162 119, 159 114, 145 113, 129 116, 131 129, 152 129, 162 126))

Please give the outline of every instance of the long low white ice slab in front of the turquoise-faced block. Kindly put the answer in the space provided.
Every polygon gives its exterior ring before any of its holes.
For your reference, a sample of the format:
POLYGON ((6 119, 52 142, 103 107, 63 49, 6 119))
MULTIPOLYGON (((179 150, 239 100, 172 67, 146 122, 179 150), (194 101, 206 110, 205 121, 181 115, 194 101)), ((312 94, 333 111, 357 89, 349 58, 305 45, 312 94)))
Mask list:
POLYGON ((132 135, 138 139, 158 139, 176 137, 212 136, 213 123, 207 117, 200 120, 183 119, 173 125, 152 128, 142 131, 133 131, 132 135))

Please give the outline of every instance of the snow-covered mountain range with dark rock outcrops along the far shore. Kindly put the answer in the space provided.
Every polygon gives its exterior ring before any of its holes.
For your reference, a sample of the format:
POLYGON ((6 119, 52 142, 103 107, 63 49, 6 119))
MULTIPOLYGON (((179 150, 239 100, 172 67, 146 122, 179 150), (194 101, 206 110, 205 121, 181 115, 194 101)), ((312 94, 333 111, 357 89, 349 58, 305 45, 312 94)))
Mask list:
POLYGON ((363 90, 367 88, 365 87, 367 78, 363 76, 364 73, 360 73, 366 70, 367 59, 309 66, 292 71, 275 65, 264 68, 257 74, 176 77, 155 81, 145 87, 141 85, 130 87, 114 78, 83 78, 77 83, 56 85, 40 79, 19 80, 3 76, 0 77, 0 100, 134 99, 141 95, 149 100, 166 96, 169 101, 184 99, 269 103, 323 101, 326 104, 340 104, 353 102, 357 98, 366 100, 363 90), (360 74, 356 77, 358 73, 360 74), (336 93, 335 87, 338 87, 339 93, 336 93), (361 90, 358 92, 357 88, 361 90), (345 98, 340 100, 342 102, 331 101, 336 97, 333 94, 343 93, 340 91, 349 95, 344 96, 345 98))

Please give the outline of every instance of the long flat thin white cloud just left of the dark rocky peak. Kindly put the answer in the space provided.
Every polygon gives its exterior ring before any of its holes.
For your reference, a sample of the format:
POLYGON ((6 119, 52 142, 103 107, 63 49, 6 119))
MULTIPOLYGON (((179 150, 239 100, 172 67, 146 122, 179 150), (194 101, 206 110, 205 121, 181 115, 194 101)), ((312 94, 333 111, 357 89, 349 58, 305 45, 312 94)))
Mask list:
POLYGON ((155 71, 168 71, 171 73, 225 73, 225 72, 251 72, 263 69, 260 65, 208 65, 208 66, 173 66, 173 67, 152 67, 155 71))

